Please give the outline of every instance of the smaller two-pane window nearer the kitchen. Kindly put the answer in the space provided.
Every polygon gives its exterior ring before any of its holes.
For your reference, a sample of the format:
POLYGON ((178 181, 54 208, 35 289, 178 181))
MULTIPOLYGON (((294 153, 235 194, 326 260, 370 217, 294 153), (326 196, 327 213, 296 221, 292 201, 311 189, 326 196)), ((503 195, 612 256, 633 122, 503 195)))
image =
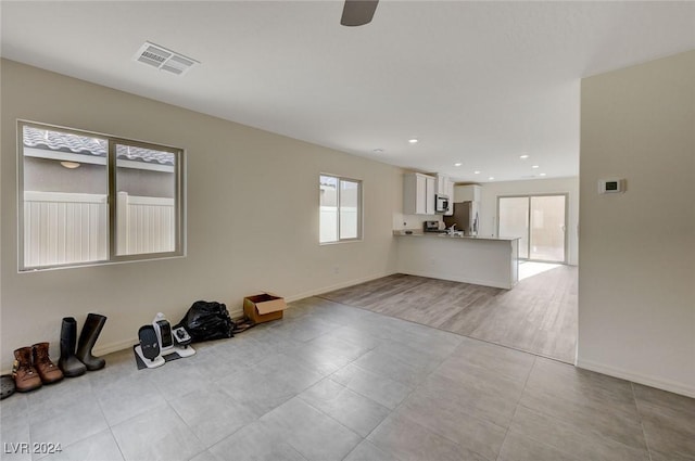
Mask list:
POLYGON ((321 175, 320 243, 362 239, 362 181, 321 175))

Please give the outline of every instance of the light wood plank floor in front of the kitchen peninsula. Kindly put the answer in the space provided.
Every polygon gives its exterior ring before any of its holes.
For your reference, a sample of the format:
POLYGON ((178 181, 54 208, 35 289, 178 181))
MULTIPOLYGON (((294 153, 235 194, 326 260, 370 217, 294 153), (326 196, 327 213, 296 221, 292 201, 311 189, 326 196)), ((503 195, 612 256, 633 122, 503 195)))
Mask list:
POLYGON ((394 274, 319 297, 574 362, 576 267, 539 273, 513 290, 394 274))

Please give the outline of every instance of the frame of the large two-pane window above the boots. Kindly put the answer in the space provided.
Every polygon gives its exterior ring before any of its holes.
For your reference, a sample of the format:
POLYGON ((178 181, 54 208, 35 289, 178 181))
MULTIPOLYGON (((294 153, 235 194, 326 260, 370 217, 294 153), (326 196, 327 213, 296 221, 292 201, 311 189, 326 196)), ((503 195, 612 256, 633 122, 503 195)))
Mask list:
MULTIPOLYGON (((148 167, 146 167, 148 168, 148 167)), ((17 269, 20 272, 34 272, 48 269, 61 269, 85 266, 101 266, 109 264, 119 264, 139 260, 152 260, 152 259, 166 259, 174 257, 186 256, 186 151, 184 149, 174 148, 170 145, 155 144, 143 141, 136 141, 126 138, 119 138, 111 135, 103 135, 93 131, 86 131, 75 128, 61 127, 56 125, 42 124, 37 121, 28 121, 17 119, 17 269), (104 139, 109 142, 106 152, 106 158, 100 157, 99 163, 104 162, 108 166, 108 194, 104 197, 108 204, 106 215, 106 257, 99 260, 89 260, 80 262, 67 262, 67 264, 51 264, 41 266, 26 266, 24 260, 24 127, 35 127, 38 129, 47 129, 61 131, 84 137, 93 137, 104 139), (117 166, 122 166, 123 161, 116 159, 116 144, 127 144, 143 149, 151 149, 162 152, 168 152, 175 155, 175 169, 176 176, 175 184, 175 238, 174 238, 174 251, 172 252, 157 252, 157 253, 140 253, 140 254, 127 254, 118 255, 116 252, 118 242, 118 222, 116 221, 116 208, 117 208, 117 191, 116 191, 116 171, 117 166)))

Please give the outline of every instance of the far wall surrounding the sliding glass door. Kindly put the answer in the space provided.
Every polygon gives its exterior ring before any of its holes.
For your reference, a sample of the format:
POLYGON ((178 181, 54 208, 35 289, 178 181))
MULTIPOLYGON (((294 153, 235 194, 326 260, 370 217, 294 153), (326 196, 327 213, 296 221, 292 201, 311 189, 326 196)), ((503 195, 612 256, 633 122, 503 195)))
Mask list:
POLYGON ((480 235, 496 235, 497 197, 507 195, 568 194, 567 260, 576 266, 579 254, 579 178, 530 179, 527 181, 486 182, 480 189, 480 235))

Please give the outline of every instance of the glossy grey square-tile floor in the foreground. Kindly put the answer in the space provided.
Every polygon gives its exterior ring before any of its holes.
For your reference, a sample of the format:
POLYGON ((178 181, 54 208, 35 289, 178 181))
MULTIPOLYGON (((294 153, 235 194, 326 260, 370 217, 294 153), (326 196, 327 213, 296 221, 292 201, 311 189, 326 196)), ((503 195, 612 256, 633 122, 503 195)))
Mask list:
POLYGON ((2 400, 0 458, 695 460, 695 399, 315 297, 160 369, 106 360, 2 400))

